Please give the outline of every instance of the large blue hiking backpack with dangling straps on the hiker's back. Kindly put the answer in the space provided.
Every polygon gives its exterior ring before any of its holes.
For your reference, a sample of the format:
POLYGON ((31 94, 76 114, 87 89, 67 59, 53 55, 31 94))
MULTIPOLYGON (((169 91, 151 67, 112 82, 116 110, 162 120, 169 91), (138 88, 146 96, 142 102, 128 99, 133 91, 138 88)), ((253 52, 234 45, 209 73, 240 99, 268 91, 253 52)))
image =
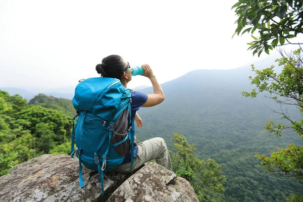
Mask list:
POLYGON ((125 88, 119 79, 89 78, 76 86, 73 105, 77 114, 72 118, 71 157, 79 158, 81 188, 84 186, 82 164, 90 170, 98 171, 102 196, 103 171, 113 170, 122 164, 129 152, 132 170, 134 124, 130 104, 130 89, 125 88))

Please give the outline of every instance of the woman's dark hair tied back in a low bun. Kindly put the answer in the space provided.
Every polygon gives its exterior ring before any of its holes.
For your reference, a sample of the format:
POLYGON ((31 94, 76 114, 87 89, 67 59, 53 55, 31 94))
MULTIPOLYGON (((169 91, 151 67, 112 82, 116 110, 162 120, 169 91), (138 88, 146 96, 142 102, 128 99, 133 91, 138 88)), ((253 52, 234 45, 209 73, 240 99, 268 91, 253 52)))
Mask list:
POLYGON ((121 56, 111 55, 102 60, 102 64, 97 64, 96 71, 102 77, 120 79, 125 71, 125 63, 121 56))

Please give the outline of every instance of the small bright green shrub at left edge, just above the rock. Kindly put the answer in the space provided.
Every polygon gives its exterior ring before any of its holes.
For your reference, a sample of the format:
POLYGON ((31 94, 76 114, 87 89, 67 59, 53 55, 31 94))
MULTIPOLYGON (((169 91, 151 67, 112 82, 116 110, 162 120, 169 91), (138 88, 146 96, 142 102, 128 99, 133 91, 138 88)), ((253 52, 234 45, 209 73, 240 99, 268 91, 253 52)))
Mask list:
POLYGON ((6 175, 19 163, 18 153, 11 151, 7 146, 0 149, 0 176, 6 175))

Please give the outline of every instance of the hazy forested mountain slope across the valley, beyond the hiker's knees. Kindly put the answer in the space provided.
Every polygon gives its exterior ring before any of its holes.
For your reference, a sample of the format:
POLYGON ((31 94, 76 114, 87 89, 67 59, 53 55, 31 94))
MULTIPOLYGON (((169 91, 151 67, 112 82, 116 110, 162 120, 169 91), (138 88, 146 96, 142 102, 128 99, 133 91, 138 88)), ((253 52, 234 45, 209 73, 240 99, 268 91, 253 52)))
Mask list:
MULTIPOLYGON (((281 122, 268 107, 279 111, 280 106, 265 94, 243 97, 241 91, 254 88, 249 75, 254 76, 249 67, 195 70, 162 84, 164 102, 139 110, 143 128, 136 128, 137 139, 164 137, 173 149, 173 133, 183 134, 196 145, 199 158, 214 159, 222 166, 227 178, 225 201, 281 201, 290 193, 302 194, 302 185, 269 175, 254 157, 302 142, 293 133, 276 137, 265 131, 269 119, 281 122)), ((152 93, 153 88, 142 92, 152 93)), ((288 113, 293 116, 297 111, 288 108, 288 113)))

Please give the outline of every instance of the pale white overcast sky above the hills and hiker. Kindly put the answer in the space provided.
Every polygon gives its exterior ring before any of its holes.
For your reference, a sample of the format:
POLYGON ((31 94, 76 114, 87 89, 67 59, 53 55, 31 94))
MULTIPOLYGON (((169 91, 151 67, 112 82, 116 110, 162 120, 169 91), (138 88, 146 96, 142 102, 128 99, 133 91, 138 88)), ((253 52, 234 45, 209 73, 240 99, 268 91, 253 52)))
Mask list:
POLYGON ((149 64, 160 83, 264 59, 246 51, 250 35, 231 39, 236 2, 0 0, 0 87, 75 86, 112 54, 149 64))

